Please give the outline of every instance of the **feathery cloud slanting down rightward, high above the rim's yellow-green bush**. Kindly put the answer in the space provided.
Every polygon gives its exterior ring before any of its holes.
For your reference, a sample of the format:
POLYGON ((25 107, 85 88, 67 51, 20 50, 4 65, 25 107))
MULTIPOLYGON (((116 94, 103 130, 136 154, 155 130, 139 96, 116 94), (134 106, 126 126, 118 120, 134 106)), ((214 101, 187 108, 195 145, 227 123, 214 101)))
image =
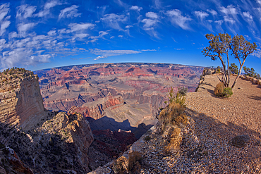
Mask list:
POLYGON ((192 20, 189 15, 183 16, 181 11, 174 9, 172 11, 166 11, 166 15, 169 16, 172 25, 178 25, 183 30, 189 30, 187 22, 192 20))

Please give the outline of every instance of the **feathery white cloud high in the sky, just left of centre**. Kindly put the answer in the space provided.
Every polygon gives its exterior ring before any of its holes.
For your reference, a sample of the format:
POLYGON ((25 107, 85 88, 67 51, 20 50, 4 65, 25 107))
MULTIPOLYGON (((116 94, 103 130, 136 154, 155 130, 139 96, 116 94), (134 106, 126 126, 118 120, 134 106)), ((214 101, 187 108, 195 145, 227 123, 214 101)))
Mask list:
POLYGON ((109 27, 114 28, 116 30, 123 30, 120 26, 121 23, 126 22, 128 19, 125 15, 116 15, 114 13, 104 15, 101 18, 102 22, 109 25, 109 27))

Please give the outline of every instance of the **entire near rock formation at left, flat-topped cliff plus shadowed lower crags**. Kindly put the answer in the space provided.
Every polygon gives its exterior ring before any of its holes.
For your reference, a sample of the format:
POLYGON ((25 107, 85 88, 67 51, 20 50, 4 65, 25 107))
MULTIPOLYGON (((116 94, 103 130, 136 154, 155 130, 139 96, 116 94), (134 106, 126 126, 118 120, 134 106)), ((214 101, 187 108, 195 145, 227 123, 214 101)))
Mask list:
POLYGON ((90 171, 90 123, 78 113, 46 111, 32 72, 11 68, 0 75, 0 143, 15 151, 2 155, 1 146, 1 173, 90 171))

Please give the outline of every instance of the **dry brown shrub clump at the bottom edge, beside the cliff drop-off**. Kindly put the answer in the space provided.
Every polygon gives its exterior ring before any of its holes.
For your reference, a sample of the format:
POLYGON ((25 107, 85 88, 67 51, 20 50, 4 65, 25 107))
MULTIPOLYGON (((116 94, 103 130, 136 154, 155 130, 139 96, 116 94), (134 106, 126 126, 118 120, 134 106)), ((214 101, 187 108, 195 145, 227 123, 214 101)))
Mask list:
POLYGON ((138 151, 131 151, 128 154, 128 159, 126 156, 121 156, 114 162, 114 172, 115 173, 139 173, 141 168, 142 156, 138 151))

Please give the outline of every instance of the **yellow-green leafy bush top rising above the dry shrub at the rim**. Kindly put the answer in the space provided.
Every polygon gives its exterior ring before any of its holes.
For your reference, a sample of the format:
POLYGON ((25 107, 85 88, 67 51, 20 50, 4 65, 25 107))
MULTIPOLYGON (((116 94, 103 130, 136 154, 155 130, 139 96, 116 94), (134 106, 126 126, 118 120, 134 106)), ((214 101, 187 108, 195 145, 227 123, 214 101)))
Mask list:
POLYGON ((180 94, 179 92, 174 92, 174 88, 171 87, 171 89, 169 89, 169 92, 167 94, 168 97, 168 101, 165 101, 165 104, 180 104, 181 106, 186 106, 186 97, 182 94, 180 94))

